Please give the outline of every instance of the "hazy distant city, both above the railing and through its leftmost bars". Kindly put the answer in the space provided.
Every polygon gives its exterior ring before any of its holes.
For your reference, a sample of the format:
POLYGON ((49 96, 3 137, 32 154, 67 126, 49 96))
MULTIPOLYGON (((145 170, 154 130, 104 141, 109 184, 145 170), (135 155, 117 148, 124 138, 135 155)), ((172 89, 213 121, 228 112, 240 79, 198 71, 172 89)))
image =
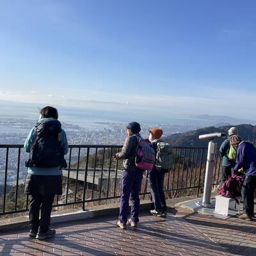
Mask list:
MULTIPOLYGON (((0 145, 23 145, 36 120, 24 118, 0 118, 0 145)), ((124 122, 93 122, 93 129, 81 127, 76 124, 62 122, 62 127, 67 133, 69 145, 122 145, 125 140, 124 122), (95 128, 96 127, 96 128, 95 128)), ((147 138, 150 128, 161 127, 164 136, 177 132, 195 130, 196 125, 170 125, 170 124, 141 124, 141 136, 147 138)), ((17 148, 10 148, 8 152, 8 184, 14 184, 17 179, 17 148)), ((20 177, 24 179, 26 167, 24 165, 28 154, 20 151, 20 177)), ((4 181, 6 167, 6 148, 0 148, 0 184, 4 181)))

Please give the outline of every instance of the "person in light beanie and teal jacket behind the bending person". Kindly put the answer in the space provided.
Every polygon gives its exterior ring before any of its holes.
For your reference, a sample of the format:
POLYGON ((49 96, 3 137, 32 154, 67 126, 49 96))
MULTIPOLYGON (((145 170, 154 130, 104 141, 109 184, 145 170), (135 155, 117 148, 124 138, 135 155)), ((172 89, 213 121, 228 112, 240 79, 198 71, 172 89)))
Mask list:
POLYGON ((230 137, 234 134, 237 134, 236 127, 231 127, 228 130, 228 138, 223 141, 223 143, 220 146, 220 155, 222 157, 222 163, 221 163, 221 180, 220 180, 220 186, 231 176, 231 169, 234 167, 236 163, 236 159, 229 159, 228 158, 228 152, 230 149, 230 137))

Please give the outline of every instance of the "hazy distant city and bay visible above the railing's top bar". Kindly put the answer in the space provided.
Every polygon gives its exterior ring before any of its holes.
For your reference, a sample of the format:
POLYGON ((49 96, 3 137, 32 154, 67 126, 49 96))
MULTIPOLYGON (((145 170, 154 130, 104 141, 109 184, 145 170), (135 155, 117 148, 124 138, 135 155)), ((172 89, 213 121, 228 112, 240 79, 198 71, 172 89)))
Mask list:
MULTIPOLYGON (((36 120, 24 118, 1 118, 0 119, 0 145, 2 144, 23 144, 29 131, 36 124, 36 120)), ((124 122, 94 122, 93 127, 88 129, 76 124, 62 122, 62 127, 67 133, 68 144, 97 144, 117 145, 124 143, 125 126, 124 122)), ((148 136, 150 128, 161 127, 164 136, 177 132, 185 132, 199 128, 196 125, 170 125, 170 124, 141 124, 141 136, 148 136)))

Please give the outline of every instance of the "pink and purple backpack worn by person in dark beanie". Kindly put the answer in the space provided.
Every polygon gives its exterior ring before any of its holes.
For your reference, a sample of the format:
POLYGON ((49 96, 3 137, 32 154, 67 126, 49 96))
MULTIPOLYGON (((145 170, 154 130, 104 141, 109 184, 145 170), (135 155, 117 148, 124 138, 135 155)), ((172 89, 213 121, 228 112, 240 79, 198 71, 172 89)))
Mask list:
POLYGON ((156 152, 151 143, 138 138, 138 146, 136 149, 135 166, 143 171, 152 170, 156 161, 156 152))

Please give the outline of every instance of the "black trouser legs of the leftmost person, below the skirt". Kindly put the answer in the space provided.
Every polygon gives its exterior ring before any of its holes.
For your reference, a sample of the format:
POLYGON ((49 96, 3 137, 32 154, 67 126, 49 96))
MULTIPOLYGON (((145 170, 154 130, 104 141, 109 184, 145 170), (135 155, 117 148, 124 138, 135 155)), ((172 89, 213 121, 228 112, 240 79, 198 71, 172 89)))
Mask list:
POLYGON ((29 204, 29 221, 33 232, 44 233, 49 229, 53 200, 54 194, 41 195, 36 192, 31 194, 31 201, 29 204), (39 220, 40 208, 41 218, 39 220))

